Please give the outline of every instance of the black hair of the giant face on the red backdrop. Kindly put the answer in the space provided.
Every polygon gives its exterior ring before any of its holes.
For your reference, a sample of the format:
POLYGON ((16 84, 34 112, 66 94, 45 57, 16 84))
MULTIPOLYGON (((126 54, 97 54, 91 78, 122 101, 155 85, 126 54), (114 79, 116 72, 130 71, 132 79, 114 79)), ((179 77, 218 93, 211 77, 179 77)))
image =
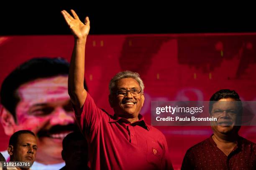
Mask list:
MULTIPOLYGON (((69 74, 69 62, 61 57, 33 58, 16 67, 3 81, 0 90, 1 104, 13 115, 16 120, 16 106, 20 101, 16 90, 27 82, 38 78, 49 78, 69 74)), ((84 81, 84 88, 87 85, 84 81)))

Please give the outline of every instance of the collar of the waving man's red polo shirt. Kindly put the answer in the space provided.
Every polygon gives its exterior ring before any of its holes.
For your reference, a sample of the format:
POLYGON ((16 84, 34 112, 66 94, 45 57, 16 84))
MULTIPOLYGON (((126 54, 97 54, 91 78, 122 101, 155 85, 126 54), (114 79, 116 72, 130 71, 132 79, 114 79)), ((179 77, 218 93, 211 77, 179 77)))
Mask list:
POLYGON ((126 124, 130 124, 132 126, 136 126, 139 125, 142 128, 146 129, 146 130, 150 130, 148 125, 146 124, 143 115, 139 114, 138 115, 138 121, 130 123, 127 119, 123 118, 123 117, 119 117, 117 114, 114 114, 113 116, 110 116, 110 123, 115 123, 115 122, 124 122, 126 124))

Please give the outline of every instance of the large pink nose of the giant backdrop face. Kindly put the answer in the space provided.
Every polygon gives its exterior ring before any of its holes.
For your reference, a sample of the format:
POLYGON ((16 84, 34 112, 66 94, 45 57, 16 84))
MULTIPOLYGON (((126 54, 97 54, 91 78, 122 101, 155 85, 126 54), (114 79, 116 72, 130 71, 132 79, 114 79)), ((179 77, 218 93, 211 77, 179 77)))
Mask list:
POLYGON ((51 125, 68 125, 74 123, 74 117, 62 107, 57 107, 51 117, 51 125))

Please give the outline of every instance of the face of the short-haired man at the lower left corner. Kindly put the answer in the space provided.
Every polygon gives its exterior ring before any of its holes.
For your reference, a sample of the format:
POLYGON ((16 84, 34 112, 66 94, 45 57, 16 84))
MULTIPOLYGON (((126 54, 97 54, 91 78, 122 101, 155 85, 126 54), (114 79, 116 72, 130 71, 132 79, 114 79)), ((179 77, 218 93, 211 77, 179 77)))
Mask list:
POLYGON ((30 162, 35 161, 37 152, 36 137, 30 133, 19 135, 16 145, 8 147, 10 161, 30 162))

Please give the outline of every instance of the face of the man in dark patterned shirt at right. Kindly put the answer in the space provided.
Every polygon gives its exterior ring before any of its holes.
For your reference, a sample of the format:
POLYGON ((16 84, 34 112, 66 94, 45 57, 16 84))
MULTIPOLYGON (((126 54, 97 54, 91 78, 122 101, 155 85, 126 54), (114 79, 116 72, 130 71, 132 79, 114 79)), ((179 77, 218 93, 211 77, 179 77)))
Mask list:
POLYGON ((212 130, 215 134, 237 133, 239 126, 235 126, 238 118, 237 102, 233 98, 223 98, 212 106, 212 116, 217 122, 212 122, 212 130))

